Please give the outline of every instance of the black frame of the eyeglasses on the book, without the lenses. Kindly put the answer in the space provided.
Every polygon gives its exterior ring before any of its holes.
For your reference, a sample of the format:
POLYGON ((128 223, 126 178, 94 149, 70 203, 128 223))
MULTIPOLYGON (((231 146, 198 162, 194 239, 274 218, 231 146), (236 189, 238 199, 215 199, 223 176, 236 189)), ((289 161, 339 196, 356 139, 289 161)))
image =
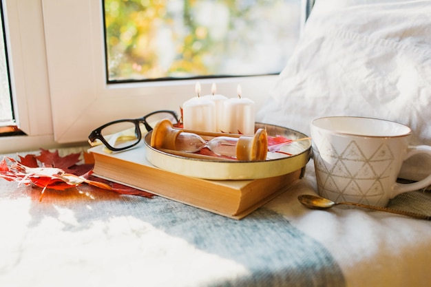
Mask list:
POLYGON ((105 147, 107 147, 107 149, 111 150, 111 151, 124 151, 125 149, 129 149, 131 147, 134 147, 135 145, 138 145, 138 143, 140 142, 140 140, 142 140, 142 133, 140 131, 140 127, 139 124, 142 123, 143 125, 145 125, 145 129, 147 129, 147 131, 152 131, 153 127, 151 127, 149 125, 149 123, 147 123, 147 118, 149 116, 153 116, 154 114, 159 114, 159 113, 167 113, 167 114, 171 114, 172 116, 174 116, 174 118, 176 119, 177 123, 180 123, 180 120, 178 118, 178 115, 176 114, 175 111, 171 111, 171 110, 159 110, 159 111, 153 111, 141 118, 125 118, 122 120, 113 120, 112 122, 106 123, 105 125, 101 125, 100 127, 98 127, 97 129, 94 129, 90 135, 88 136, 88 142, 90 142, 90 144, 96 140, 100 140, 103 145, 105 145, 105 147), (117 123, 134 123, 135 125, 135 134, 137 136, 137 140, 136 142, 134 142, 132 145, 128 145, 127 147, 112 147, 112 145, 109 145, 109 143, 107 142, 107 140, 105 140, 105 138, 102 135, 102 130, 105 129, 105 127, 108 127, 109 125, 115 125, 117 123))

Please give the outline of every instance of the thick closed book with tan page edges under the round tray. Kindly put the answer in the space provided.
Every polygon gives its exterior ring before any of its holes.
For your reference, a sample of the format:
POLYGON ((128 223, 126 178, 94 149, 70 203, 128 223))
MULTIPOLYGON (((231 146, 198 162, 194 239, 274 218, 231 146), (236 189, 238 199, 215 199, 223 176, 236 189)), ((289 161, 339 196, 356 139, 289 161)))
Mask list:
POLYGON ((238 220, 286 191, 304 169, 255 180, 205 180, 154 167, 145 151, 143 142, 117 153, 92 147, 94 176, 238 220))

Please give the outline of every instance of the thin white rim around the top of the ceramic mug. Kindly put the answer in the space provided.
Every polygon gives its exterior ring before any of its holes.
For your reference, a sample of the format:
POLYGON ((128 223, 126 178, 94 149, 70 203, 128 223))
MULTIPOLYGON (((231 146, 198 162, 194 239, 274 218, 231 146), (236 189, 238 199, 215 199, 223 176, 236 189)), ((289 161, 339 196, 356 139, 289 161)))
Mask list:
POLYGON ((331 132, 333 134, 337 134, 337 135, 341 135, 341 136, 360 136, 360 137, 366 137, 366 138, 401 138, 401 137, 405 137, 405 136, 410 136, 412 134, 412 129, 410 127, 408 127, 407 125, 403 125, 401 123, 395 122, 393 120, 385 120, 382 118, 371 118, 371 117, 366 117, 366 116, 324 116, 321 118, 315 118, 312 122, 311 122, 311 126, 315 127, 317 129, 323 129, 325 131, 331 132), (337 129, 330 129, 328 127, 322 127, 320 125, 317 125, 317 122, 320 120, 325 120, 325 119, 339 119, 339 118, 346 118, 346 119, 359 119, 359 120, 377 120, 379 122, 386 122, 386 123, 390 123, 392 125, 397 125, 399 127, 403 127, 404 129, 407 129, 405 133, 403 134, 397 134, 397 135, 386 135, 386 134, 381 134, 381 135, 372 135, 372 134, 359 134, 359 133, 352 133, 352 132, 348 132, 348 131, 338 131, 337 129))

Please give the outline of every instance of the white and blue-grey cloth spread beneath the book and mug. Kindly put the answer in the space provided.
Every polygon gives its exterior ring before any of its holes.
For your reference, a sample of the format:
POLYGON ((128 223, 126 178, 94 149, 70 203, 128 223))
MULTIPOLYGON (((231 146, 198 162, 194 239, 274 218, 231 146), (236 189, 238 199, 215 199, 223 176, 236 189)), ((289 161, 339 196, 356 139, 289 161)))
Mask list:
MULTIPOLYGON (((1 286, 426 286, 431 225, 401 215, 312 211, 306 176, 243 220, 164 198, 0 182, 1 286)), ((392 207, 431 213, 426 191, 392 207)))

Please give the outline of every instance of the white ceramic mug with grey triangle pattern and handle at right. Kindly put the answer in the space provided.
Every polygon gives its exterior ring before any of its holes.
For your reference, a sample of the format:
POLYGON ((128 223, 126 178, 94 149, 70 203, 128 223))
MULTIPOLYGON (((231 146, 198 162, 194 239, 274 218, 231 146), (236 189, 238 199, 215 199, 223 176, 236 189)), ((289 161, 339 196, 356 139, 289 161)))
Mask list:
POLYGON ((403 161, 414 154, 431 156, 428 145, 411 146, 410 127, 388 120, 333 116, 311 123, 313 159, 319 195, 335 202, 386 206, 399 193, 428 187, 397 183, 403 161))

